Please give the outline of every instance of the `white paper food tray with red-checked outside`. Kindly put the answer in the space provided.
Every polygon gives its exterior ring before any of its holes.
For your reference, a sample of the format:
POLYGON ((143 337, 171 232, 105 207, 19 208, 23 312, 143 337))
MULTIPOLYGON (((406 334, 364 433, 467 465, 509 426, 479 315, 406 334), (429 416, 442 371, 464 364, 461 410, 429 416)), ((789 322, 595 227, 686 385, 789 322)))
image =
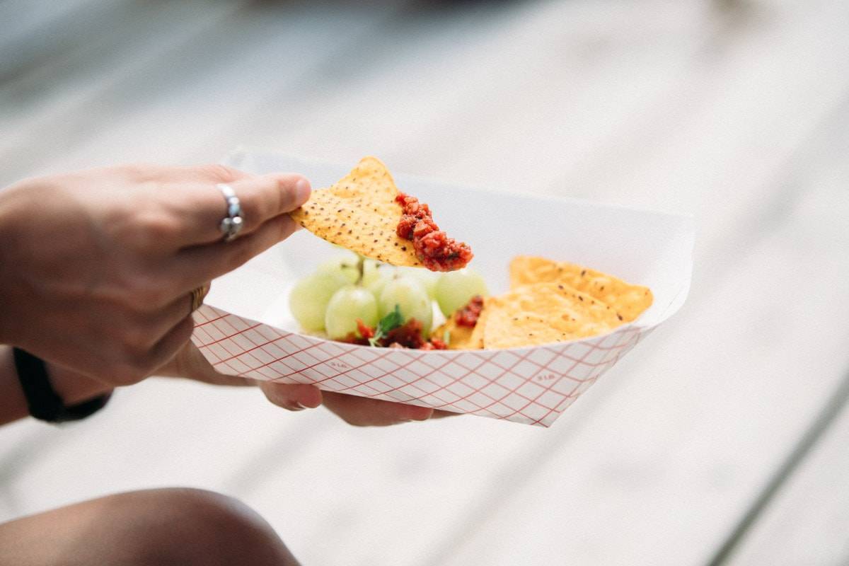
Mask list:
MULTIPOLYGON (((225 162, 253 173, 297 171, 314 188, 354 165, 249 151, 225 162)), ((291 286, 340 253, 301 230, 212 283, 192 339, 218 371, 547 427, 687 297, 694 243, 687 216, 394 177, 430 204, 441 228, 471 245, 470 266, 493 294, 508 288, 511 258, 542 255, 646 285, 654 304, 611 333, 559 344, 424 351, 343 344, 298 333, 290 316, 291 286)))

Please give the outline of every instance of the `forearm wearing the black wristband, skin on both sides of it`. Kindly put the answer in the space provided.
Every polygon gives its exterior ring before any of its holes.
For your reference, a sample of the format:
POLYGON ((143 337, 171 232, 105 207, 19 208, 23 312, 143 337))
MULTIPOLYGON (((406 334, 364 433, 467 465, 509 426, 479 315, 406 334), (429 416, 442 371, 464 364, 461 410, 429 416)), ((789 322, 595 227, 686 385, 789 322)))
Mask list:
MULTIPOLYGON (((110 385, 98 382, 64 367, 48 364, 48 374, 53 390, 66 406, 87 401, 108 393, 110 385)), ((29 415, 24 391, 14 368, 12 347, 0 345, 0 424, 10 423, 29 415)))

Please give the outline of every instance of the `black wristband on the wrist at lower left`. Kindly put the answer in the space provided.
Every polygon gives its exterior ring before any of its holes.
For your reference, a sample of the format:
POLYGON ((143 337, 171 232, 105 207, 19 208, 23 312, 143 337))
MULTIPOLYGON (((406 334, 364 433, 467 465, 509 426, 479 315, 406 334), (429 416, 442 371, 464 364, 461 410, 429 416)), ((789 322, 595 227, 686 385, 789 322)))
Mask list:
POLYGON ((106 401, 109 401, 110 394, 106 394, 74 406, 65 406, 50 384, 44 361, 20 348, 13 348, 12 353, 18 381, 26 397, 26 406, 29 407, 30 414, 39 420, 48 423, 78 421, 98 412, 104 408, 106 401))

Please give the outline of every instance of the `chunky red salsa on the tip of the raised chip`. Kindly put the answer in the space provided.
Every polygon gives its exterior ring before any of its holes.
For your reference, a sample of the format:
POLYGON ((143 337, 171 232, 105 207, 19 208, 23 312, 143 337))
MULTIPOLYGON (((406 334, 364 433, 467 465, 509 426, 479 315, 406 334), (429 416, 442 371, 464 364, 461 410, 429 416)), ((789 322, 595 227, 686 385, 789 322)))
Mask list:
POLYGON ((432 272, 453 272, 471 261, 469 244, 448 238, 436 226, 428 205, 404 193, 398 193, 395 200, 403 209, 396 233, 399 238, 413 242, 422 265, 432 272))

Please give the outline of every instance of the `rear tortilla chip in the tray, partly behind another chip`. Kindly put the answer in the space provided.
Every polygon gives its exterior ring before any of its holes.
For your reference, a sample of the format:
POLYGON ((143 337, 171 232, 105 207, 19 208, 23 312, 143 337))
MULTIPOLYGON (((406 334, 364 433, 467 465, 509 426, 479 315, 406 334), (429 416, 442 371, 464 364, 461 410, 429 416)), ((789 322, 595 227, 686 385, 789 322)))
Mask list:
POLYGON ((612 275, 565 261, 531 255, 520 255, 510 261, 511 288, 543 282, 565 283, 602 300, 622 317, 623 322, 633 321, 654 300, 648 287, 625 283, 612 275))

